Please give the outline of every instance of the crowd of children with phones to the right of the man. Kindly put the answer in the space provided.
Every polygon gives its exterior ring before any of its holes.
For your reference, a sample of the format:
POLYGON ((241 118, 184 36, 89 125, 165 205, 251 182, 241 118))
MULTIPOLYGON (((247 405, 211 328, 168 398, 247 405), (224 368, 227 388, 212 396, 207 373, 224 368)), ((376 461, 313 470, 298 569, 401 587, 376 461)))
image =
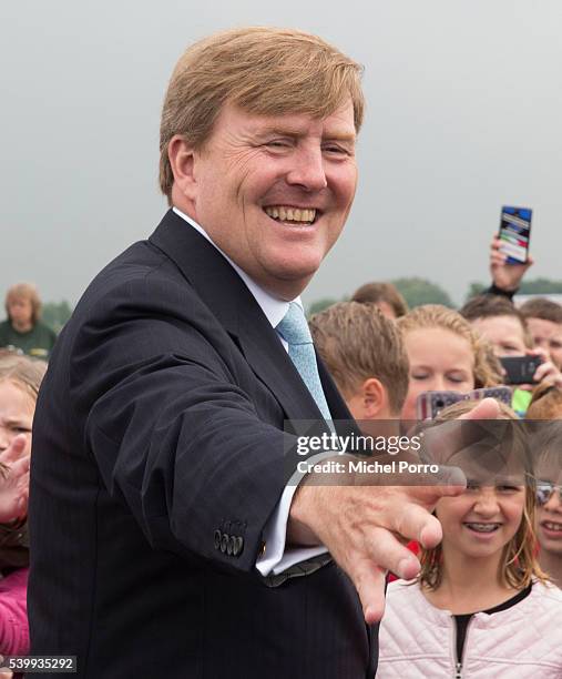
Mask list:
MULTIPOLYGON (((460 313, 408 312, 388 284, 367 284, 310 320, 356 419, 413 420, 421 394, 501 385, 502 357, 539 357, 530 383, 512 388, 519 414, 500 404, 507 426, 527 411, 519 448, 510 444, 524 473, 472 465, 467 490, 439 500, 441 545, 411 545, 419 576, 390 578, 378 677, 562 677, 562 307, 533 300, 518 310, 513 291, 498 287, 513 275, 505 267, 494 242, 494 290, 460 313)), ((458 403, 437 420, 473 405, 458 403)))

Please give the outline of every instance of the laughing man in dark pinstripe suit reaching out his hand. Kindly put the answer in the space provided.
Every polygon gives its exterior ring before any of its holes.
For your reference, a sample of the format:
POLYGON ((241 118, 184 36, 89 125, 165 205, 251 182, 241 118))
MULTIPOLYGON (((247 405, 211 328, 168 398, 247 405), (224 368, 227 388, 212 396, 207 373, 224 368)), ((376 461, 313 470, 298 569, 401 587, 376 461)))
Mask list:
POLYGON ((439 541, 428 509, 458 489, 292 476, 284 422, 349 417, 287 318, 351 206, 359 77, 289 30, 178 62, 173 210, 90 285, 37 406, 32 653, 95 679, 374 676, 384 571, 419 567, 396 536, 439 541))

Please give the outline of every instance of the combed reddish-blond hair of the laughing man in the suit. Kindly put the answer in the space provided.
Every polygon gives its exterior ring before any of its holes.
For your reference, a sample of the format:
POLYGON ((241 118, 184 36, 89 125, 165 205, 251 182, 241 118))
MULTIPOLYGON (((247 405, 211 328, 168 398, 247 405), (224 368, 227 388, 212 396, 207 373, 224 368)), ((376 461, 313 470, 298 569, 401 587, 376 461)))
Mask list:
POLYGON ((171 199, 167 146, 182 134, 201 149, 225 103, 262 115, 330 115, 351 99, 356 131, 362 122, 362 68, 320 38, 293 29, 252 27, 215 33, 177 62, 162 110, 160 188, 171 199))

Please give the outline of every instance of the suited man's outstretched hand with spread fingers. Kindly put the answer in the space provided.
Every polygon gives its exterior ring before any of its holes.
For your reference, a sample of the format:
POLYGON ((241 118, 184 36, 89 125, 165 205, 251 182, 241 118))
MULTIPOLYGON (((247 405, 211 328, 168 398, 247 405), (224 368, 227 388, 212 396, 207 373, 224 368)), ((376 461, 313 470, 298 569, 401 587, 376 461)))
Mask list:
MULTIPOLYGON (((498 415, 497 402, 486 398, 460 419, 494 419, 498 415)), ((366 622, 374 624, 385 610, 387 570, 405 579, 420 570, 419 560, 403 543, 418 540, 431 548, 441 541, 441 525, 431 513, 441 497, 463 493, 464 475, 441 467, 435 475, 420 474, 416 486, 398 485, 397 475, 371 475, 357 485, 351 480, 338 486, 314 485, 314 477, 305 477, 295 493, 289 541, 324 544, 354 582, 366 622)))

